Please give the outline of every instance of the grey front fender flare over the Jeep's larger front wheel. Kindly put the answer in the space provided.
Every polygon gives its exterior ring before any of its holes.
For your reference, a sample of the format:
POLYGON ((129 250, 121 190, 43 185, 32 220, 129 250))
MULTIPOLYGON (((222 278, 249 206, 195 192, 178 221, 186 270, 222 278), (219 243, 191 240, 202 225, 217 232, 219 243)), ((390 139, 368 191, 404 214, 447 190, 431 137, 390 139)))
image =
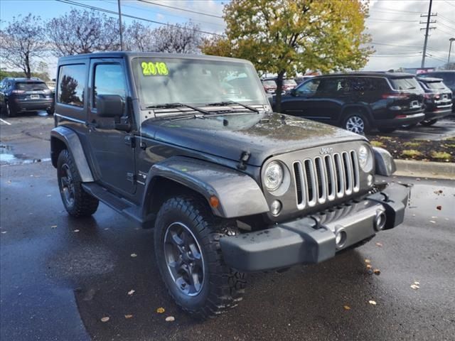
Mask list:
POLYGON ((154 183, 167 178, 203 195, 208 203, 210 197, 218 197, 218 207, 209 207, 218 217, 234 218, 269 212, 269 206, 256 181, 245 173, 208 161, 173 156, 150 168, 144 191, 143 217, 154 193, 154 183))

